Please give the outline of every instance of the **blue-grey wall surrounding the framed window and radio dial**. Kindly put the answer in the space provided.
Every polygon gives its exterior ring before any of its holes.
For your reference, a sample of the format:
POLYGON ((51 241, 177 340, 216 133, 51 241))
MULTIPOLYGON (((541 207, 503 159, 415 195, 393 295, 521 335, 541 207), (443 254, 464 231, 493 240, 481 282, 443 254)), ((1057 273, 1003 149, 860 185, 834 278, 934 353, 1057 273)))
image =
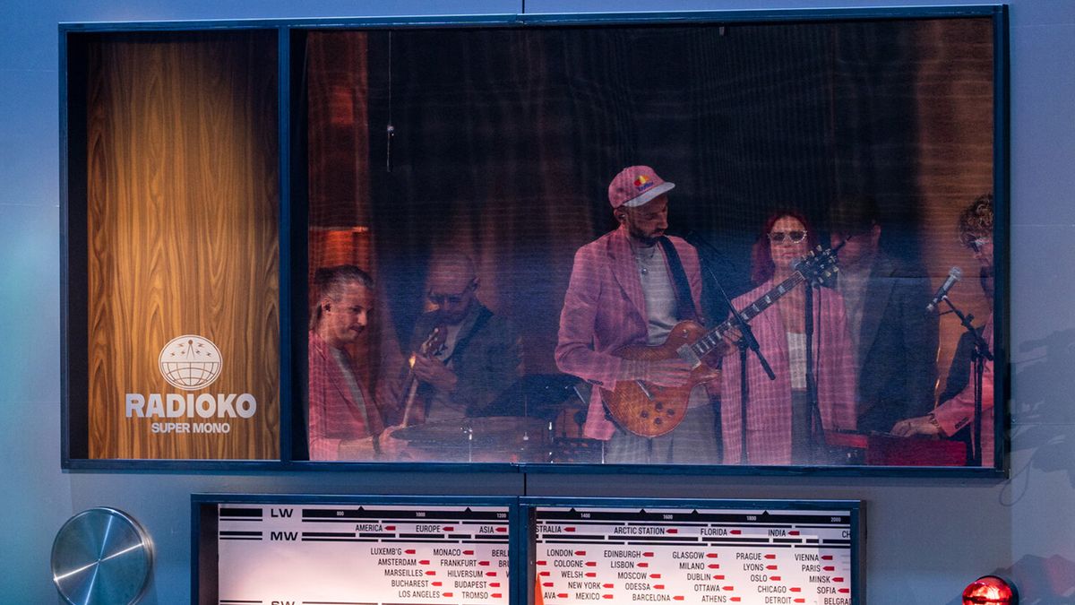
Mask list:
MULTIPOLYGON (((950 3, 965 3, 955 2, 950 3)), ((864 6, 885 1, 527 0, 527 12, 864 6)), ((936 2, 905 1, 905 4, 936 2)), ((398 474, 63 473, 59 465, 57 24, 516 13, 521 1, 8 0, 0 5, 0 602, 57 602, 56 530, 110 505, 157 545, 146 603, 189 602, 192 492, 521 493, 521 478, 398 474)), ((1075 1, 1013 0, 1012 478, 532 476, 532 495, 861 498, 872 604, 958 603, 980 574, 1024 577, 1024 603, 1075 602, 1075 1)))

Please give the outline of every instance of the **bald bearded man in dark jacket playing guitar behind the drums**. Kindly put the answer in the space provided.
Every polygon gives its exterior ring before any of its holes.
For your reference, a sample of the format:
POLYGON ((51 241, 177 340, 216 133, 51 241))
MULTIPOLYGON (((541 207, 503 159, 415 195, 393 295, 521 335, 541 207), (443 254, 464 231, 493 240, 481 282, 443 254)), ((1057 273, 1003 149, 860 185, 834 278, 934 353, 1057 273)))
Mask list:
MULTIPOLYGON (((478 300, 477 271, 465 254, 435 256, 428 283, 426 295, 434 309, 418 318, 411 337, 418 388, 406 424, 504 413, 491 406, 522 375, 518 332, 478 300), (442 330, 443 346, 434 344, 424 355, 422 343, 434 329, 442 330)), ((407 395, 400 394, 399 420, 407 395)))

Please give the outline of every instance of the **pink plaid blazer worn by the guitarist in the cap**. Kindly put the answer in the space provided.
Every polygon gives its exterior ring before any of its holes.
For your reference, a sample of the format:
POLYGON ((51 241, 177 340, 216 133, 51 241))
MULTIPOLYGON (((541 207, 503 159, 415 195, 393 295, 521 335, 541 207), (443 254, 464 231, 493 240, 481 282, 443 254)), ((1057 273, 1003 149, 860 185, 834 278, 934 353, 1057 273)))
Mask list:
MULTIPOLYGON (((701 309, 702 272, 698 251, 679 238, 669 238, 679 253, 694 308, 701 309)), ((671 275, 671 273, 670 273, 671 275)), ((556 365, 604 389, 614 389, 620 358, 613 351, 646 343, 646 297, 631 254, 627 229, 620 227, 575 253, 571 282, 560 312, 556 365)), ((593 389, 583 434, 607 440, 616 427, 605 418, 601 391, 593 389)))

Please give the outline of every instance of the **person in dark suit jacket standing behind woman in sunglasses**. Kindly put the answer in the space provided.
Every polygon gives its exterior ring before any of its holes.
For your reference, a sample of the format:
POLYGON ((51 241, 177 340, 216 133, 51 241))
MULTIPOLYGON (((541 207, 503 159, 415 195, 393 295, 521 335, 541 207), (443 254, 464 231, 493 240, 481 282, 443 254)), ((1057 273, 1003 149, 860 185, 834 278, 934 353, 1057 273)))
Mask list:
POLYGON ((858 368, 858 430, 887 432, 933 409, 937 315, 928 313, 930 280, 880 247, 883 226, 870 198, 843 198, 830 209, 838 251, 836 290, 844 296, 858 368))

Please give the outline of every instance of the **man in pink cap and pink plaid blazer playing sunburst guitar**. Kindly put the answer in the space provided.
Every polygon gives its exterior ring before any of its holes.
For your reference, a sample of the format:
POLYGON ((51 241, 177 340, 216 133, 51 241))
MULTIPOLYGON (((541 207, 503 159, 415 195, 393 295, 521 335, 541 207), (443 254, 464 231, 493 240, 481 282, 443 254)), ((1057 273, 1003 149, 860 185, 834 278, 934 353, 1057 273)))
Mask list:
POLYGON ((668 193, 674 186, 648 166, 625 168, 613 179, 608 201, 619 228, 576 252, 560 313, 557 366, 597 386, 584 434, 607 441, 610 463, 720 463, 716 418, 706 392, 716 394, 719 372, 705 364, 694 368, 678 357, 617 354, 626 346, 663 343, 683 320, 701 323, 698 252, 683 239, 664 235, 668 193), (605 399, 619 383, 633 385, 646 398, 654 397, 654 389, 697 384, 689 390, 682 417, 668 416, 668 409, 654 404, 637 414, 647 416, 653 431, 632 432, 605 413, 605 399), (665 431, 671 425, 674 428, 665 431))

